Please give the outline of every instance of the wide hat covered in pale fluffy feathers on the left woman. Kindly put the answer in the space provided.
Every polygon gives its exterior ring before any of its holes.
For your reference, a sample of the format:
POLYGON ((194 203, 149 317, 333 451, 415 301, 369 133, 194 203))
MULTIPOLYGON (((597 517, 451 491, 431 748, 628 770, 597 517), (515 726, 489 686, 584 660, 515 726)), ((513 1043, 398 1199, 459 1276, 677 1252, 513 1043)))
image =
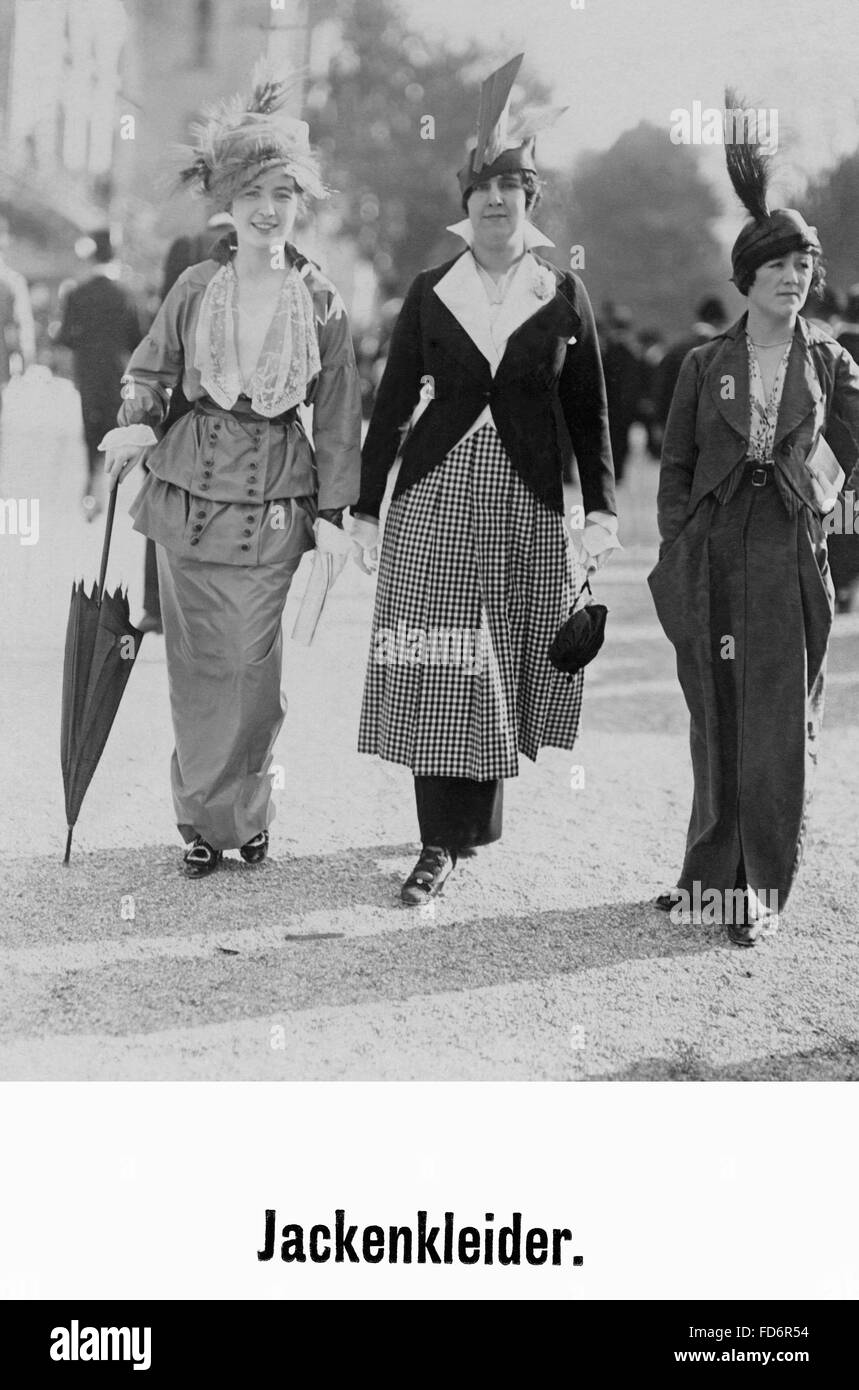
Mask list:
POLYGON ((328 197, 307 122, 284 111, 295 85, 295 79, 278 76, 260 60, 247 100, 234 96, 220 101, 192 125, 193 145, 181 146, 189 163, 179 172, 179 183, 228 207, 250 179, 282 165, 304 193, 328 197))

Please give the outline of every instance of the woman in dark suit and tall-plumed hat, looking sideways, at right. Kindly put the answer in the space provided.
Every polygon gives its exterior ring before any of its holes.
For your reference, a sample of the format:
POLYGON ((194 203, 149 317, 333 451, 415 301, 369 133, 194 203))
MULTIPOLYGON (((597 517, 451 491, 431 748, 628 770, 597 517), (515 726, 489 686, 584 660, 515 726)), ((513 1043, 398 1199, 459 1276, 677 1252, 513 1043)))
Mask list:
POLYGON ((859 370, 799 317, 820 277, 816 229, 769 210, 753 146, 726 149, 752 213, 733 250, 749 309, 687 356, 663 443, 649 584, 677 651, 695 794, 677 890, 657 905, 720 902, 730 940, 753 945, 778 924, 806 834, 833 621, 827 446, 856 466, 859 370))

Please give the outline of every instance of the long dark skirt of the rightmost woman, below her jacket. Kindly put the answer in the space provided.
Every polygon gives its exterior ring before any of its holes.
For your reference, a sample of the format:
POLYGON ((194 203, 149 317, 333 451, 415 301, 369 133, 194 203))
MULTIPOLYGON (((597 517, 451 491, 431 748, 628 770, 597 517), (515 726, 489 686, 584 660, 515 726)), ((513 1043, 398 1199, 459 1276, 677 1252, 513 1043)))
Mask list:
POLYGON ((695 777, 678 888, 751 887, 783 910, 802 858, 833 584, 819 518, 771 478, 702 500, 649 577, 677 651, 695 777), (776 894, 776 897, 773 897, 776 894))

